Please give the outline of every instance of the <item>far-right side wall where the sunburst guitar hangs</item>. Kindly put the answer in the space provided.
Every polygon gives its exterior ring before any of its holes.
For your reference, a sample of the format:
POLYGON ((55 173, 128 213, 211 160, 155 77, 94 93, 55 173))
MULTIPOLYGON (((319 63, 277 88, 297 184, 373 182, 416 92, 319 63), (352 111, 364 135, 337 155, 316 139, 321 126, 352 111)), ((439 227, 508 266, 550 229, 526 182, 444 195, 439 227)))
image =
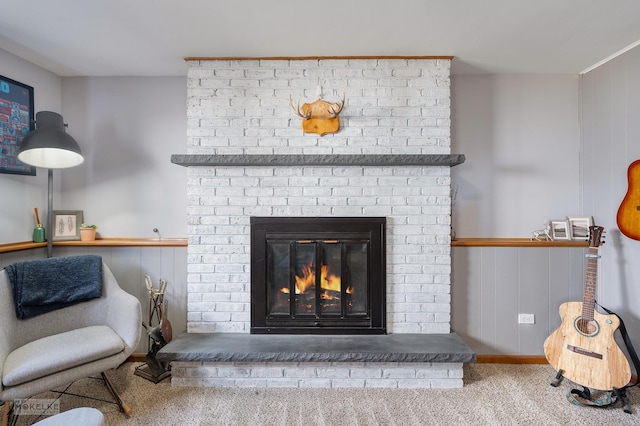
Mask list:
POLYGON ((640 341, 640 241, 620 233, 616 214, 628 189, 638 200, 638 182, 629 186, 627 168, 640 159, 639 76, 639 47, 584 75, 580 173, 581 209, 605 228, 597 300, 622 316, 634 342, 640 341))

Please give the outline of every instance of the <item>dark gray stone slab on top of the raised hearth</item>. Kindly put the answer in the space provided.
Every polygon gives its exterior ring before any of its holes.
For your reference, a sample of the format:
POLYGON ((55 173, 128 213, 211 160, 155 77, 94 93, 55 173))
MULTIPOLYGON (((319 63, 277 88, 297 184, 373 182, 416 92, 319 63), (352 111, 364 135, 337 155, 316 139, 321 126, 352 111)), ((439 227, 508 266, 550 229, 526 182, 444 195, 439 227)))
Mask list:
POLYGON ((455 333, 376 336, 183 333, 158 360, 203 362, 475 362, 455 333))

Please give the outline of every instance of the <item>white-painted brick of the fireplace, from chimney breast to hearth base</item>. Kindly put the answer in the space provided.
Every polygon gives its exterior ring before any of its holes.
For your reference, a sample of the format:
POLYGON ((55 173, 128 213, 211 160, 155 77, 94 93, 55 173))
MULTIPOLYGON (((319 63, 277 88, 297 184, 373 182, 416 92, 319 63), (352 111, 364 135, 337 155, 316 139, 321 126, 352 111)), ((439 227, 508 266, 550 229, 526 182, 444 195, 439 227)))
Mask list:
MULTIPOLYGON (((450 61, 189 61, 187 155, 174 157, 190 159, 172 161, 189 166, 187 329, 192 337, 249 333, 252 216, 385 217, 387 332, 450 333, 450 166, 412 161, 451 157, 450 61), (343 93, 346 99, 340 131, 323 137, 303 134, 301 118, 289 107, 290 96, 294 104, 314 101, 319 87, 329 102, 343 93), (283 158, 295 161, 273 164, 283 158)), ((174 384, 462 386, 459 360, 432 366, 212 364, 188 353, 173 359, 186 361, 174 363, 174 384)))

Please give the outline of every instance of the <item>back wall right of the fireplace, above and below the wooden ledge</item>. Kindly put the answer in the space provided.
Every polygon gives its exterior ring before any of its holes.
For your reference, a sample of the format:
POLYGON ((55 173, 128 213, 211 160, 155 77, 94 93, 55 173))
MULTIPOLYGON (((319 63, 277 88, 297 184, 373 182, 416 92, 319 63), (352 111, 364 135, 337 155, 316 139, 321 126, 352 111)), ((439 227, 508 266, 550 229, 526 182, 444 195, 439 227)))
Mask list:
MULTIPOLYGON (((529 238, 580 206, 577 75, 454 75, 458 237, 529 238)), ((581 300, 583 249, 455 247, 452 328, 480 354, 543 353, 558 306, 581 300), (535 324, 518 324, 518 314, 535 324)))

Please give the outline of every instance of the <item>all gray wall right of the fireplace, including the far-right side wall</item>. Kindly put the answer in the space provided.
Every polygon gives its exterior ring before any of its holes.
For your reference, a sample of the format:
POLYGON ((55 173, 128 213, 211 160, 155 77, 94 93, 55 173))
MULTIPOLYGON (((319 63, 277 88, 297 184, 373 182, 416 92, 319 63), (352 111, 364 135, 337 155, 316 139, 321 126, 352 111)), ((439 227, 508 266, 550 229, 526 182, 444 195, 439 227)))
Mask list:
MULTIPOLYGON (((452 169, 453 185, 459 186, 453 208, 458 235, 527 237, 545 219, 593 216, 604 226, 606 241, 596 298, 622 316, 633 341, 640 339, 640 309, 632 302, 640 300, 634 284, 640 271, 633 262, 640 246, 621 235, 615 217, 628 187, 626 168, 640 158, 640 127, 634 118, 640 114, 639 72, 636 48, 581 78, 454 76, 452 101, 453 150, 467 155, 465 165, 452 169), (503 101, 483 108, 485 99, 494 98, 503 101), (522 126, 509 119, 522 111, 527 112, 522 126), (579 133, 569 131, 576 123, 582 132, 577 147, 579 133), (494 132, 494 126, 507 130, 494 132), (505 138, 508 133, 520 137, 505 138), (482 143, 476 144, 476 134, 482 143), (509 163, 531 164, 509 169, 496 160, 494 146, 499 145, 509 152, 509 163), (473 153, 481 160, 477 167, 473 153), (547 169, 555 182, 542 175, 547 169), (529 191, 513 186, 506 176, 529 191), (517 223, 521 218, 528 218, 528 227, 517 223)), ((544 339, 560 324, 560 303, 582 300, 584 252, 454 248, 453 329, 478 353, 542 354, 544 339), (518 313, 534 314, 536 323, 517 324, 518 313)))

